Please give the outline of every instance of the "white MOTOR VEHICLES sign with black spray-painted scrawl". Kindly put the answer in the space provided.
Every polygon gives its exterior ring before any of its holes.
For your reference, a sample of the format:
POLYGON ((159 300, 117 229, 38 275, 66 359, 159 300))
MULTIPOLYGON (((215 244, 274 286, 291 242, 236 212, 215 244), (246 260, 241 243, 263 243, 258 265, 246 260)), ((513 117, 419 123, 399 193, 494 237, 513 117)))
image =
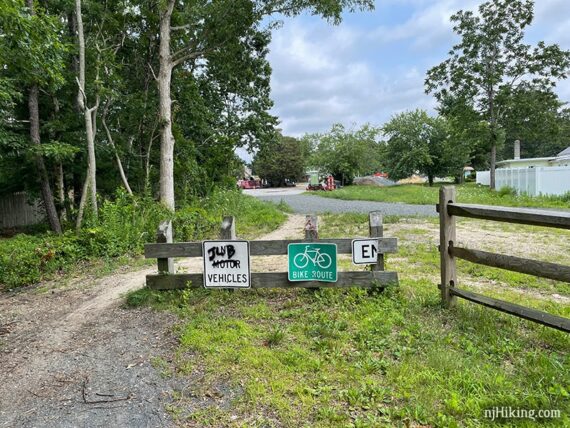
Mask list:
POLYGON ((204 241, 204 287, 249 288, 249 242, 204 241))

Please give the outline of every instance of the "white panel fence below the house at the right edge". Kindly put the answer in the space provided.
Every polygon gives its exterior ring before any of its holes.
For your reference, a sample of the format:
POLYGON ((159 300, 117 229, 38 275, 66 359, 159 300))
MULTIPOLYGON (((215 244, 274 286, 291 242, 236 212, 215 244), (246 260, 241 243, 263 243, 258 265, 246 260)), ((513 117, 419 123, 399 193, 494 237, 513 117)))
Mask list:
MULTIPOLYGON (((477 172, 477 183, 489 185, 489 171, 477 172)), ((570 192, 570 166, 541 166, 536 168, 498 168, 495 187, 512 187, 530 196, 563 195, 570 192)))

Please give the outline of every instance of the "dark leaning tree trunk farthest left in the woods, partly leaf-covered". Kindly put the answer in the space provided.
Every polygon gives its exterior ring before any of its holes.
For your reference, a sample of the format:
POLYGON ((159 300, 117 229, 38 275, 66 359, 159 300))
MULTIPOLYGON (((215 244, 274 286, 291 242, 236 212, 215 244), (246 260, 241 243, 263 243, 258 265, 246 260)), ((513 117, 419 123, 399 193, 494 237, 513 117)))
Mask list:
MULTIPOLYGON (((26 6, 30 10, 30 14, 34 15, 33 0, 26 0, 26 6)), ((38 86, 32 85, 28 97, 28 109, 30 113, 30 138, 32 140, 32 144, 35 144, 37 146, 41 144, 40 108, 39 108, 38 97, 39 97, 38 86)), ((36 168, 38 169, 40 187, 42 191, 42 199, 44 202, 44 208, 46 210, 46 215, 48 218, 49 225, 51 227, 51 230, 61 235, 61 224, 59 222, 59 218, 57 217, 57 210, 55 209, 53 193, 51 191, 51 186, 49 184, 49 176, 47 173, 46 165, 44 163, 44 159, 40 153, 36 155, 36 168)))

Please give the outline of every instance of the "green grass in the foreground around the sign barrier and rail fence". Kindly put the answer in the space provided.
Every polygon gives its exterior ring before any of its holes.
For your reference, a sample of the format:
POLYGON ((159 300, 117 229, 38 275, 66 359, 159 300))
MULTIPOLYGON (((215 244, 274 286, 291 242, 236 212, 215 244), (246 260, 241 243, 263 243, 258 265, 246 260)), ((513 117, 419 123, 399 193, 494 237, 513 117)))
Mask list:
MULTIPOLYGON (((366 236, 366 220, 325 215, 321 237, 366 236), (351 228, 343 228, 349 219, 351 228)), ((417 242, 434 225, 390 220, 386 236, 407 238, 400 239, 398 254, 387 257, 400 286, 383 293, 195 289, 129 295, 133 306, 151 305, 180 317, 170 367, 157 366, 200 381, 173 395, 170 410, 177 422, 478 427, 494 425, 484 418, 485 409, 511 406, 558 409, 562 418, 538 422, 568 426, 570 335, 465 301, 442 309, 437 252, 417 242)), ((458 269, 466 283, 491 275, 466 268, 458 269)), ((512 277, 497 283, 503 280, 512 277)), ((522 283, 485 294, 570 316, 569 305, 521 293, 522 283)), ((552 291, 551 285, 538 289, 552 291)))

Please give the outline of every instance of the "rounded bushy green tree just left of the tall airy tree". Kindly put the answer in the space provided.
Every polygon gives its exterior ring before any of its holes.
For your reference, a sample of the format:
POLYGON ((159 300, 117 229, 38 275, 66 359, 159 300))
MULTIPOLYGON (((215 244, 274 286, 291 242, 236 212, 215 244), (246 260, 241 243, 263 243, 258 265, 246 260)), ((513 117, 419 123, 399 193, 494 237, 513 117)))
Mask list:
POLYGON ((456 174, 464 157, 452 147, 449 126, 441 117, 429 117, 423 110, 400 113, 382 128, 388 141, 383 149, 384 170, 399 180, 420 173, 429 185, 437 176, 456 174))

